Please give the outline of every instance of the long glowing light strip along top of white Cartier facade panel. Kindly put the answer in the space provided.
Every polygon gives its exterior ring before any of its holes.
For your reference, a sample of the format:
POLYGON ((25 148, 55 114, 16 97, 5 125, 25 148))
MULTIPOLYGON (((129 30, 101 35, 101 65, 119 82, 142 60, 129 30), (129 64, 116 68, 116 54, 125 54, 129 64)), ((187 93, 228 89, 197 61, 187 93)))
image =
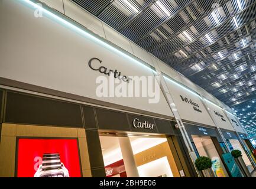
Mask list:
POLYGON ((35 4, 34 2, 30 0, 22 0, 22 2, 27 3, 31 6, 32 9, 38 9, 41 10, 44 14, 47 14, 49 17, 56 19, 56 21, 60 22, 60 24, 65 25, 66 27, 76 31, 80 35, 89 38, 89 40, 92 40, 95 43, 98 43, 99 45, 102 45, 105 48, 108 48, 109 50, 113 51, 116 54, 119 54, 120 56, 123 56, 125 58, 128 58, 129 60, 133 61, 134 63, 140 64, 141 66, 154 71, 151 69, 150 66, 145 65, 141 61, 136 60, 135 58, 131 57, 129 54, 122 52, 121 50, 118 50, 118 48, 113 47, 112 45, 106 43, 105 41, 101 40, 100 38, 95 37, 94 35, 90 34, 89 32, 82 30, 81 28, 77 27, 76 25, 72 24, 69 21, 66 21, 65 19, 59 17, 58 15, 54 14, 53 12, 48 11, 47 9, 44 9, 40 5, 35 4))

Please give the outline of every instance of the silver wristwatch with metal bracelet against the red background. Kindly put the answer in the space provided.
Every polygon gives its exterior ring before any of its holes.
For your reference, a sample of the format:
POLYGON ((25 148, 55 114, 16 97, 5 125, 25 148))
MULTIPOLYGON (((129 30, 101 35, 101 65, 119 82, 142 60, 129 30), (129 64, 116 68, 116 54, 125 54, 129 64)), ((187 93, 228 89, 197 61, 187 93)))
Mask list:
POLYGON ((69 171, 60 161, 59 153, 43 154, 43 162, 34 177, 69 177, 69 171))

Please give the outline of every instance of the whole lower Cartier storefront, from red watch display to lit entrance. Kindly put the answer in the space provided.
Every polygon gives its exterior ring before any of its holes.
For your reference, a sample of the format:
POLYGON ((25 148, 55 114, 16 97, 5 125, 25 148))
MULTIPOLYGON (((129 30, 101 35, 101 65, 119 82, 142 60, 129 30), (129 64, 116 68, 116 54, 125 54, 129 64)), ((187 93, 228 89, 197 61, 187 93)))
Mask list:
POLYGON ((195 177, 173 120, 14 90, 0 95, 0 176, 195 177))

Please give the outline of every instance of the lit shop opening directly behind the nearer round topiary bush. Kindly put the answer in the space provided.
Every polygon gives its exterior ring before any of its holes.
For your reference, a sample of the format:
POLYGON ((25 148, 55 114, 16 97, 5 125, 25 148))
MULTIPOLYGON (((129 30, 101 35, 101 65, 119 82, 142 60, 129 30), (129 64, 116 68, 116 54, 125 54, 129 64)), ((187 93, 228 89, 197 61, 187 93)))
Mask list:
POLYGON ((212 171, 215 177, 229 177, 210 136, 192 135, 192 139, 196 147, 197 155, 212 159, 212 171))

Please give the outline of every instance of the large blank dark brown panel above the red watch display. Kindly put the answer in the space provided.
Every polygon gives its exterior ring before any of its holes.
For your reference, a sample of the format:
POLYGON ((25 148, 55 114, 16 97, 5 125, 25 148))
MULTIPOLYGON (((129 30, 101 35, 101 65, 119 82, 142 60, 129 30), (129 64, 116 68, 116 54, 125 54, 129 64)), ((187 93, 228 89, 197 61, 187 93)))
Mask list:
POLYGON ((83 127, 80 105, 7 92, 5 122, 83 127))

